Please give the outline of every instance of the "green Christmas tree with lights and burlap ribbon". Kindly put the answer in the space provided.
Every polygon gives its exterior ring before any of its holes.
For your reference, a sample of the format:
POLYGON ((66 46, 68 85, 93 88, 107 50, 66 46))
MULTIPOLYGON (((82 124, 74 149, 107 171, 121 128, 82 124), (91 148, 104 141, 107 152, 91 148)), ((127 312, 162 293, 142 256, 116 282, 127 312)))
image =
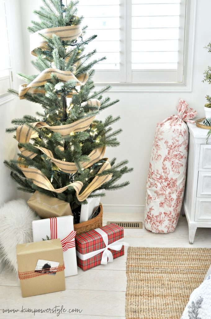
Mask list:
POLYGON ((120 182, 131 172, 127 160, 104 157, 105 147, 117 147, 121 129, 111 125, 120 117, 109 115, 105 121, 96 118, 102 110, 119 100, 103 98, 110 85, 94 91, 92 80, 96 50, 85 49, 97 35, 85 37, 87 26, 81 27, 83 17, 77 17, 78 1, 65 6, 60 0, 42 0, 43 6, 34 13, 39 21, 28 27, 31 63, 38 73, 18 76, 26 84, 19 92, 9 92, 43 108, 37 116, 24 115, 12 120, 20 152, 18 159, 5 160, 18 189, 57 197, 71 209, 86 204, 87 197, 105 196, 103 190, 121 189, 129 182, 120 182), (101 190, 100 194, 95 191, 101 190))

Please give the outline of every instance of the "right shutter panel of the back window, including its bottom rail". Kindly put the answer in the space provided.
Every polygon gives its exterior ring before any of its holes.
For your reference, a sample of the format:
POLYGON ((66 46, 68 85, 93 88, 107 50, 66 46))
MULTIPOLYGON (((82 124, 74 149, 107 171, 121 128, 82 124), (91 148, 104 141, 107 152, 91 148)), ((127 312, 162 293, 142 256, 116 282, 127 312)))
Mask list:
POLYGON ((132 82, 182 82, 185 0, 132 0, 132 82))

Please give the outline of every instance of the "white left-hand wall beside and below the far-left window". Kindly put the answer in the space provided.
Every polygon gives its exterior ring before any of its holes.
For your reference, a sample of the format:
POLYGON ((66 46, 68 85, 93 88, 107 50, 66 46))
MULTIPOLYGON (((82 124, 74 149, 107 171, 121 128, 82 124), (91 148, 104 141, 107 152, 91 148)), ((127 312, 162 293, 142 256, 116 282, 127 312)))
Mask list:
MULTIPOLYGON (((21 23, 20 0, 10 0, 10 17, 12 20, 12 28, 10 32, 12 54, 12 66, 14 74, 14 87, 17 88, 19 80, 15 77, 18 70, 24 70, 24 51, 23 51, 23 34, 21 23), (14 54, 15 53, 15 54, 14 54)), ((26 107, 26 106, 25 106, 26 107)), ((11 120, 20 116, 22 112, 26 112, 26 108, 17 98, 0 105, 0 204, 10 199, 16 198, 16 184, 10 178, 10 170, 3 164, 4 159, 12 159, 17 153, 17 142, 13 138, 13 134, 6 134, 5 129, 12 126, 11 120)))

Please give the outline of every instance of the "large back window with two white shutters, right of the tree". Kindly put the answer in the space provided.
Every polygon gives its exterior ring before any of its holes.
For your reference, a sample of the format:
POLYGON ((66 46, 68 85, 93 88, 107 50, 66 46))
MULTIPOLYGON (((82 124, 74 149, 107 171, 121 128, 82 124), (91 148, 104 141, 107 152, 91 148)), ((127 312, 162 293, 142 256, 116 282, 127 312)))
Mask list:
MULTIPOLYGON (((190 0, 80 0, 97 82, 182 84, 190 0)), ((193 1, 194 2, 194 1, 193 1)), ((192 4, 193 4, 192 2, 192 4)), ((188 41, 187 41, 188 42, 188 41)))

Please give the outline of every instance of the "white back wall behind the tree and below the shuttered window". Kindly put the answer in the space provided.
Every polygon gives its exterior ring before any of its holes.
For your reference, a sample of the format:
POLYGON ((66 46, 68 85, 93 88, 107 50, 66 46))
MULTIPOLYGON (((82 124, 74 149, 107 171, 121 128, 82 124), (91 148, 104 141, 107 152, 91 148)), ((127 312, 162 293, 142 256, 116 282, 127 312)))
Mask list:
MULTIPOLYGON (((26 27, 30 24, 30 20, 33 18, 31 13, 32 9, 38 7, 40 0, 20 0, 20 2, 25 71, 27 73, 33 73, 34 70, 30 64, 31 56, 29 54, 29 33, 26 31, 26 27)), ((206 94, 209 94, 211 89, 208 84, 201 82, 203 72, 207 68, 208 64, 210 64, 210 55, 207 50, 203 48, 209 43, 209 41, 211 41, 211 36, 208 32, 208 30, 211 29, 210 12, 210 0, 198 1, 192 92, 109 93, 112 99, 118 98, 120 99, 120 102, 112 108, 105 110, 102 113, 101 118, 104 118, 108 114, 113 114, 114 116, 121 115, 121 121, 119 121, 115 127, 121 127, 124 131, 119 136, 119 140, 121 142, 119 148, 107 148, 106 156, 110 159, 112 157, 117 157, 118 160, 125 158, 129 159, 129 165, 134 167, 134 172, 132 174, 127 174, 124 178, 125 180, 129 179, 131 184, 123 190, 107 192, 107 196, 103 199, 104 204, 144 204, 146 177, 156 123, 175 113, 175 106, 177 105, 180 97, 187 100, 190 107, 195 108, 199 112, 199 116, 202 117, 204 115, 203 106, 206 103, 205 96, 206 94)), ((36 105, 31 107, 31 103, 24 100, 18 101, 18 99, 16 99, 10 103, 10 105, 12 112, 15 108, 18 116, 22 116, 25 113, 26 105, 29 105, 27 113, 31 112, 31 114, 33 114, 35 110, 37 110, 36 105)), ((5 127, 8 126, 8 122, 11 117, 10 114, 12 112, 5 111, 7 114, 5 115, 7 122, 4 124, 5 127)), ((8 151, 7 146, 5 147, 8 141, 11 142, 11 137, 10 140, 7 138, 6 143, 4 143, 3 158, 10 157, 10 155, 13 155, 14 153, 14 143, 13 145, 10 145, 10 152, 8 151)), ((8 176, 8 173, 5 174, 8 176)), ((10 186, 14 189, 12 184, 10 184, 10 186)))

